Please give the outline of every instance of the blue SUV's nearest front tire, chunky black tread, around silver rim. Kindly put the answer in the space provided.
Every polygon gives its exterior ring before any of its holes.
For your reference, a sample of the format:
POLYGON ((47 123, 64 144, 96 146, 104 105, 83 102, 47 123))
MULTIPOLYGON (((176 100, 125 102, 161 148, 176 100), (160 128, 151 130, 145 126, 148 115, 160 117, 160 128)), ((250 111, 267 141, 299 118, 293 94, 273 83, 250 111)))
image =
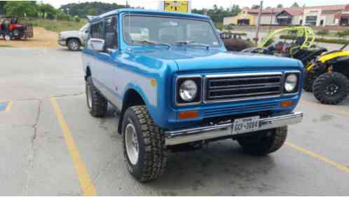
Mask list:
POLYGON ((153 122, 144 105, 126 109, 122 133, 123 154, 130 174, 139 182, 149 182, 162 175, 167 165, 164 130, 153 122), (125 147, 125 128, 130 121, 135 126, 139 146, 138 160, 135 165, 130 162, 125 147))

